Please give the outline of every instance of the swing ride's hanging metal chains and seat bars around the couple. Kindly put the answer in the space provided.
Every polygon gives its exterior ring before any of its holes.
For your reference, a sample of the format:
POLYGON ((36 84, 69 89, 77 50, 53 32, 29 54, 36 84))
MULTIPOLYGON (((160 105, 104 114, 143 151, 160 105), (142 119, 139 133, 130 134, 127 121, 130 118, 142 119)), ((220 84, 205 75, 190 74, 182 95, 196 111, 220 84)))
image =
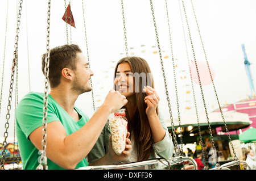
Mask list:
MULTIPOLYGON (((66 40, 67 40, 67 44, 72 43, 72 27, 76 27, 75 25, 75 20, 73 18, 72 15, 72 4, 71 1, 69 2, 68 6, 66 1, 64 1, 65 3, 65 13, 63 15, 63 20, 65 22, 65 27, 66 27, 66 40), (70 30, 68 31, 68 27, 70 26, 70 30)), ((182 123, 182 116, 181 116, 181 112, 180 112, 180 99, 179 99, 179 94, 178 94, 178 84, 177 84, 177 73, 176 73, 176 65, 175 65, 175 56, 174 56, 174 49, 173 49, 173 44, 172 44, 172 33, 171 33, 171 23, 170 23, 170 18, 169 18, 169 14, 168 14, 168 3, 167 0, 165 1, 165 5, 166 5, 166 15, 167 15, 167 24, 168 24, 168 34, 169 34, 169 44, 170 44, 170 52, 171 52, 171 64, 172 64, 172 71, 173 71, 173 77, 174 77, 174 87, 175 87, 175 98, 176 98, 176 106, 177 106, 177 123, 178 123, 178 129, 181 129, 181 123, 182 123)), ((169 95, 169 91, 168 91, 168 85, 167 84, 167 78, 166 78, 166 72, 165 72, 165 66, 164 66, 164 62, 163 62, 163 58, 167 58, 167 57, 163 57, 163 51, 162 51, 162 47, 160 46, 160 40, 159 40, 159 34, 158 34, 158 28, 156 26, 157 24, 157 20, 156 16, 155 16, 155 12, 154 12, 154 5, 152 0, 149 1, 150 4, 150 8, 151 8, 151 15, 152 15, 152 24, 154 25, 154 31, 155 31, 155 37, 156 37, 156 44, 157 44, 157 48, 158 50, 156 52, 158 52, 159 54, 159 60, 160 60, 160 67, 162 70, 162 78, 163 78, 163 82, 164 82, 164 89, 165 89, 165 93, 166 93, 166 100, 167 100, 167 107, 168 107, 168 113, 170 115, 170 120, 171 120, 171 136, 173 138, 174 141, 174 146, 175 146, 175 155, 172 158, 169 159, 164 159, 164 158, 156 158, 156 159, 150 159, 147 161, 141 161, 141 162, 133 162, 133 163, 127 163, 127 164, 120 164, 120 165, 102 165, 102 166, 88 166, 88 167, 81 167, 79 168, 80 170, 98 170, 98 169, 127 169, 127 168, 131 168, 131 167, 137 167, 137 166, 142 166, 142 165, 151 165, 154 163, 162 163, 163 167, 166 169, 170 169, 172 165, 176 165, 176 164, 181 164, 183 165, 182 169, 193 169, 193 170, 197 170, 197 163, 195 161, 195 159, 191 158, 191 157, 186 157, 183 155, 183 134, 182 132, 179 132, 178 134, 176 134, 175 132, 175 125, 174 125, 174 116, 173 116, 173 112, 172 112, 172 108, 171 108, 171 103, 170 103, 170 95, 169 95), (179 143, 177 142, 177 139, 179 139, 179 143), (184 166, 184 162, 189 162, 189 166, 184 166)), ((5 169, 5 162, 6 162, 6 148, 7 148, 7 137, 8 137, 8 132, 9 132, 9 121, 10 121, 10 111, 11 111, 11 100, 13 98, 13 89, 14 89, 14 83, 15 83, 15 108, 16 108, 16 104, 18 104, 18 40, 19 40, 19 28, 20 28, 20 19, 22 16, 22 5, 23 5, 23 1, 19 0, 19 6, 18 6, 18 12, 17 12, 17 18, 16 18, 16 36, 15 36, 15 49, 14 49, 14 58, 13 58, 13 64, 11 67, 11 81, 10 81, 10 89, 9 89, 9 101, 8 101, 8 106, 7 106, 7 115, 6 115, 6 124, 5 124, 5 133, 4 133, 4 141, 3 141, 3 146, 2 146, 2 153, 1 153, 1 169, 5 169), (16 76, 16 77, 15 77, 16 76)), ((188 66, 191 65, 191 58, 189 58, 189 53, 188 53, 188 47, 189 45, 187 45, 187 41, 185 39, 185 27, 187 27, 187 31, 188 31, 188 35, 189 35, 189 43, 191 46, 191 50, 192 50, 192 54, 193 54, 193 66, 195 66, 196 68, 196 75, 197 75, 197 80, 198 80, 198 85, 200 86, 200 93, 201 93, 201 98, 203 99, 203 104, 204 104, 204 111, 205 111, 205 117, 206 117, 206 124, 207 127, 209 129, 209 134, 210 134, 210 140, 212 143, 212 148, 213 148, 213 160, 216 163, 216 166, 213 169, 209 169, 209 170, 230 170, 229 167, 232 166, 239 166, 239 165, 243 165, 243 167, 250 169, 250 166, 247 165, 247 163, 245 161, 241 161, 240 159, 238 159, 237 155, 236 155, 236 151, 234 149, 234 146, 232 144, 232 138, 230 137, 229 134, 229 129, 228 129, 228 124, 226 123, 227 121, 225 120, 225 114, 222 112, 222 107, 220 104, 220 100, 218 98, 218 94, 217 94, 217 90, 216 90, 216 86, 214 85, 213 79, 214 79, 214 75, 212 74, 212 70, 210 68, 210 65, 208 63, 208 59, 207 59, 207 54, 206 54, 206 50, 204 47, 204 43, 203 43, 203 39, 200 33, 200 28, 199 28, 199 24, 197 22, 197 17, 196 17, 196 13, 195 13, 195 9, 193 7, 193 3, 191 1, 191 5, 192 5, 192 11, 194 14, 194 18, 196 20, 196 27, 197 27, 197 31, 199 33, 199 37, 200 37, 200 41, 201 41, 201 47, 203 48, 203 52, 204 52, 204 56, 205 56, 205 61, 207 63, 207 68, 208 68, 208 73, 209 73, 209 77, 210 77, 210 83, 213 87, 214 90, 214 96, 216 97, 217 103, 218 103, 218 109, 220 110, 220 116, 221 116, 221 120, 222 120, 222 124, 224 125, 225 128, 225 132, 228 136, 228 140, 230 142, 230 146, 232 148, 233 154, 234 154, 234 161, 225 163, 224 165, 220 165, 220 163, 218 162, 218 158, 217 158, 217 149, 216 146, 214 145, 214 140, 213 140, 213 133, 212 133, 212 127, 210 124, 210 117, 209 117, 209 113, 207 110, 207 102, 205 101, 205 92, 203 91, 203 87, 202 87, 202 82, 201 82, 201 77, 200 77, 200 72, 198 69, 198 64, 197 64, 197 57, 196 57, 196 51, 195 51, 195 47, 193 45, 193 40, 192 40, 192 36, 191 36, 191 30, 190 30, 190 26, 188 23, 188 16, 187 16, 187 9, 185 8, 185 2, 184 0, 180 0, 179 1, 179 10, 180 10, 180 16, 181 16, 181 22, 182 22, 182 26, 183 26, 183 33, 184 33, 184 42, 185 42, 185 48, 186 48, 186 55, 187 55, 187 62, 188 62, 188 66), (183 24, 183 16, 185 18, 185 24, 183 24)), ((42 150, 41 151, 41 157, 40 157, 40 163, 39 166, 37 167, 38 170, 47 170, 47 153, 46 153, 46 145, 47 145, 47 102, 48 102, 48 68, 49 68, 49 43, 50 43, 50 38, 49 38, 49 33, 50 33, 50 16, 51 16, 51 1, 48 0, 48 5, 47 5, 48 9, 47 9, 47 44, 46 44, 46 54, 48 55, 46 57, 46 65, 45 65, 45 70, 44 70, 44 107, 43 107, 43 130, 42 130, 42 150)), ((87 39, 87 35, 86 35, 86 22, 85 22, 85 11, 84 11, 84 2, 81 1, 81 7, 82 7, 82 15, 83 15, 83 20, 84 20, 84 35, 85 35, 85 43, 86 43, 86 52, 87 52, 87 56, 88 56, 88 62, 89 62, 89 50, 88 50, 88 39, 87 39)), ((122 10, 122 22, 123 22, 123 35, 124 35, 124 39, 125 40, 125 55, 129 56, 129 48, 128 48, 128 43, 127 43, 127 35, 129 33, 127 33, 127 27, 126 27, 126 22, 125 22, 125 6, 123 4, 123 0, 121 0, 121 10, 122 10)), ((8 12, 8 3, 7 3, 7 12, 8 12)), ((8 15, 8 13, 7 13, 8 15)), ((7 32, 7 15, 6 15, 6 32, 7 32)), ((5 36, 6 38, 6 36, 5 36)), ((6 39, 5 39, 5 43, 6 43, 6 39)), ((5 50, 4 50, 5 52, 5 50)), ((3 65, 5 64, 5 59, 3 60, 3 65)), ((90 65, 90 64, 89 64, 90 65)), ((196 96, 195 96, 195 89, 194 89, 194 85, 193 85, 193 79, 192 79, 192 73, 191 73, 191 68, 188 67, 189 70, 189 74, 190 74, 190 78, 191 78, 191 87, 192 87, 192 94, 193 94, 193 101, 194 101, 194 106, 195 106, 195 111, 196 111, 196 119, 195 119, 195 123, 197 124, 198 127, 198 131, 200 134, 200 144, 201 144, 201 150, 203 153, 203 158, 205 160, 205 155, 204 155, 204 150, 203 150, 203 138, 201 136, 201 118, 199 116, 199 112, 197 110, 197 103, 198 101, 196 100, 196 96)), ((4 75, 4 69, 3 69, 3 73, 2 75, 4 75)), ((3 77, 3 76, 2 76, 3 77)), ((92 79, 90 79, 90 83, 91 86, 93 87, 93 82, 92 79)), ((171 85, 172 86, 172 85, 171 85)), ((2 78, 2 87, 3 87, 3 78, 2 78)), ((2 89, 1 89, 1 96, 2 96, 2 89)), ((1 98, 2 101, 2 98, 1 98)), ((95 105, 94 105, 94 94, 93 94, 93 90, 92 90, 92 102, 93 102, 93 110, 95 110, 95 105)), ((1 104, 0 104, 1 105, 1 104)), ((14 108, 14 109, 15 109, 14 108)), ((1 111, 1 106, 0 106, 0 111, 1 111)), ((15 121, 14 121, 15 122, 15 121)), ((14 124, 15 125, 15 124, 14 124)), ((15 127, 14 127, 15 128, 15 127)), ((14 140, 15 140, 15 131, 14 131, 14 140)), ((13 149, 13 163, 19 163, 20 162, 20 158, 19 157, 19 153, 18 153, 18 146, 15 146, 16 143, 14 141, 14 149, 13 149), (16 155, 15 155, 16 154, 16 155)), ((13 167, 14 169, 14 167, 13 167)), ((18 168, 21 169, 21 168, 18 168)), ((205 166, 205 170, 207 170, 207 167, 205 166)))

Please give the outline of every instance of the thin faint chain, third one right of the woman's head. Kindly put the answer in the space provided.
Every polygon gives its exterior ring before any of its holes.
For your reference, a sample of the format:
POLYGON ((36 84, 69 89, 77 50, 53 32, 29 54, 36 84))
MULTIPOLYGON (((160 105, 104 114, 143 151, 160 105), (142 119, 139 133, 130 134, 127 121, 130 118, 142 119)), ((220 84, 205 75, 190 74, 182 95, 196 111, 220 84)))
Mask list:
MULTIPOLYGON (((185 38, 185 30, 184 30, 184 23, 183 23, 183 18, 182 18, 182 13, 181 13, 180 0, 179 0, 179 9, 180 9, 181 25, 182 25, 182 29, 183 29, 185 50, 186 50, 188 66, 189 66, 188 47, 187 47, 187 41, 186 41, 186 38, 185 38)), ((198 115, 197 104, 196 104, 195 89, 194 89, 194 86, 193 86, 193 79, 192 79, 192 73, 191 73, 191 69, 190 68, 189 68, 189 75, 190 75, 190 79, 191 79, 191 86, 192 86, 192 92, 193 92, 193 100, 194 100, 194 103, 195 103, 197 127, 198 127, 198 131, 199 131, 200 142, 201 142, 201 150, 202 150, 202 153, 203 153, 203 159, 205 160, 205 153, 204 153, 204 149, 203 149, 203 147, 204 147, 204 145, 203 145, 203 137, 202 137, 202 134, 201 134, 201 128, 200 128, 199 117, 198 117, 199 115, 198 115)), ((207 170, 206 166, 204 166, 204 168, 205 168, 205 170, 207 170)))

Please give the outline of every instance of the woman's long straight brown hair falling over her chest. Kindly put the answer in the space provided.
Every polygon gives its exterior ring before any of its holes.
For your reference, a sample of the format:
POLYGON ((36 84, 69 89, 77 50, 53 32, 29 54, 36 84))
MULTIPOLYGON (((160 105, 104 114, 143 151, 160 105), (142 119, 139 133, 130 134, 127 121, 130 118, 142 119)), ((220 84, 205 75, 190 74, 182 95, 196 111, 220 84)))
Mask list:
MULTIPOLYGON (((152 132, 150 129, 150 124, 148 122, 148 117, 146 114, 147 104, 144 103, 144 98, 147 96, 146 92, 142 91, 142 78, 139 77, 139 74, 146 75, 147 85, 154 88, 154 80, 152 78, 152 73, 150 67, 148 66, 146 60, 141 57, 125 57, 117 62, 115 66, 115 73, 117 72, 117 68, 119 64, 123 62, 128 62, 131 66, 131 71, 134 73, 134 81, 135 79, 139 79, 139 91, 135 91, 136 96, 136 113, 133 119, 130 119, 128 111, 126 110, 126 117, 128 120, 128 131, 131 133, 130 137, 134 138, 134 145, 137 149, 137 158, 138 161, 146 160, 150 157, 150 154, 154 153, 154 149, 152 147, 153 138, 152 132), (149 73, 149 74, 148 74, 149 73)), ((115 74, 114 74, 115 78, 115 74)), ((136 82, 136 81, 135 81, 136 82)), ((144 85, 143 85, 144 86, 144 85)), ((115 86, 114 86, 115 89, 115 86)), ((129 104, 129 103, 128 103, 129 104)), ((126 108, 126 107, 125 107, 126 108)), ((156 113, 158 114, 158 108, 156 109, 156 113)))

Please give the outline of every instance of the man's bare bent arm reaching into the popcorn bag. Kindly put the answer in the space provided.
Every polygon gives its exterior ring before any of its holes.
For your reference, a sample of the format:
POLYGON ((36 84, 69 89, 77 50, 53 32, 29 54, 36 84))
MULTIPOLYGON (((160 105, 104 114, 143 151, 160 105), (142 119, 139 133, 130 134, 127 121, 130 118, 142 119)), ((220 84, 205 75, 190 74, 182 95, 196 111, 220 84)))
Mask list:
MULTIPOLYGON (((93 148, 110 113, 126 103, 127 100, 119 92, 109 92, 102 106, 84 127, 69 136, 60 121, 47 124, 47 158, 64 169, 74 169, 93 148)), ((42 128, 35 129, 29 136, 39 150, 42 149, 42 128)))

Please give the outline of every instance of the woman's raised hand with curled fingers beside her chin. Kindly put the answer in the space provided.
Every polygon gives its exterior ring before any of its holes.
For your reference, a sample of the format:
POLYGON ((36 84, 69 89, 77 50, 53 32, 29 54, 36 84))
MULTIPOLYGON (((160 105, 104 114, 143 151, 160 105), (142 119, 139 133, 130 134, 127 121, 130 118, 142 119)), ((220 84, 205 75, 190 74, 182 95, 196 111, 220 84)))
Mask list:
POLYGON ((158 106, 160 98, 155 89, 150 86, 144 87, 143 90, 147 93, 147 96, 144 98, 144 102, 147 104, 146 114, 150 116, 156 113, 156 107, 158 106))

